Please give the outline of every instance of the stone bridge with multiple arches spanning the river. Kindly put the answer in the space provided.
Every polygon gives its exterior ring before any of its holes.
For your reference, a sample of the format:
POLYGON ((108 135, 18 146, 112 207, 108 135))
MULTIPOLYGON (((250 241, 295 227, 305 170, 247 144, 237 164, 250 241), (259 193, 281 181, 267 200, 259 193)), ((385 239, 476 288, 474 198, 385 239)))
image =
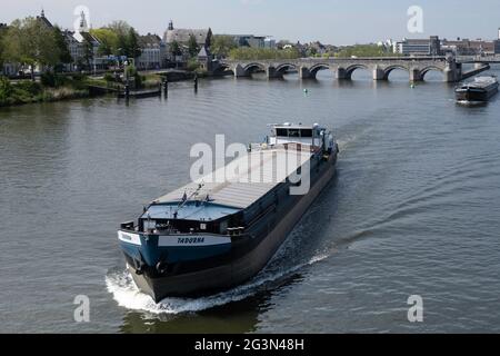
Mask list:
MULTIPOLYGON (((423 80, 426 73, 437 70, 443 73, 446 82, 464 79, 462 65, 450 57, 373 57, 373 58, 300 58, 300 59, 267 59, 267 60, 222 60, 213 71, 231 70, 234 77, 250 77, 254 71, 264 71, 268 78, 281 78, 289 70, 297 70, 300 79, 316 78, 320 70, 331 70, 337 79, 351 79, 357 69, 371 71, 373 80, 388 80, 394 69, 410 73, 410 81, 423 80)), ((467 77, 489 69, 489 66, 478 65, 467 77), (473 72, 473 73, 472 73, 473 72)))

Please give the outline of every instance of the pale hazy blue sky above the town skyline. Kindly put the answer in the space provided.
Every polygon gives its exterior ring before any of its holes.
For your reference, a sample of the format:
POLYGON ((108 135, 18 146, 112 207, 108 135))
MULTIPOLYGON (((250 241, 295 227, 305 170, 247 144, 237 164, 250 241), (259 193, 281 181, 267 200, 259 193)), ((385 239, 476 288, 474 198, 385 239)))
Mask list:
POLYGON ((176 28, 329 44, 434 34, 491 40, 500 28, 500 0, 0 0, 0 22, 39 14, 43 8, 53 23, 72 29, 79 6, 89 9, 93 28, 126 20, 140 33, 160 36, 169 20, 176 28), (411 6, 422 9, 423 32, 408 30, 411 6))

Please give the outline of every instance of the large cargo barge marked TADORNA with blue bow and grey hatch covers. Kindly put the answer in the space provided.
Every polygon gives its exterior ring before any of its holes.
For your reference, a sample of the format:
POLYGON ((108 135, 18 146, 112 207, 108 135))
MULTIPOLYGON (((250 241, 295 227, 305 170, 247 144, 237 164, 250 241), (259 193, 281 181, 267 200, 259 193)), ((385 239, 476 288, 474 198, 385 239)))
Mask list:
POLYGON ((157 303, 229 289, 257 275, 334 176, 331 131, 316 123, 271 127, 247 155, 120 226, 127 268, 157 303), (234 175, 213 179, 228 171, 234 175))

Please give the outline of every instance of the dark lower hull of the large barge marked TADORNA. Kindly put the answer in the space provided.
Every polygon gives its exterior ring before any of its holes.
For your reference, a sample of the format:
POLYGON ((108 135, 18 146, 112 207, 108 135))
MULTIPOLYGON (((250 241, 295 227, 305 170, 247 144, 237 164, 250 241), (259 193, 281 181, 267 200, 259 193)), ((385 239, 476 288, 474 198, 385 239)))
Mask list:
MULTIPOLYGON (((196 297, 224 290, 238 286, 256 276, 271 259, 286 240, 308 207, 318 197, 334 175, 337 155, 331 156, 309 192, 297 196, 277 211, 266 214, 259 227, 248 234, 260 234, 258 237, 239 236, 232 239, 231 249, 226 256, 212 260, 186 263, 177 266, 163 276, 147 270, 138 274, 133 264, 128 268, 138 287, 149 294, 157 303, 164 297, 196 297)), ((257 224, 257 222, 256 222, 257 224)))

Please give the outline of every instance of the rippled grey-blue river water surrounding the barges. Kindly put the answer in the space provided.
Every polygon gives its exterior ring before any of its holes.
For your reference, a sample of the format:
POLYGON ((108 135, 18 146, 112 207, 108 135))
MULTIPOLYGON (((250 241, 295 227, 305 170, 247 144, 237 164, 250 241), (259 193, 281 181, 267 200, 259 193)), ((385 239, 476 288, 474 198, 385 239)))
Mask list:
POLYGON ((0 332, 500 332, 500 99, 460 107, 440 73, 426 79, 256 76, 129 106, 1 109, 0 332), (119 224, 188 182, 191 145, 260 141, 283 121, 328 125, 341 154, 268 267, 204 298, 138 293, 119 224), (74 322, 78 295, 89 323, 74 322), (422 323, 408 320, 410 295, 422 323))

